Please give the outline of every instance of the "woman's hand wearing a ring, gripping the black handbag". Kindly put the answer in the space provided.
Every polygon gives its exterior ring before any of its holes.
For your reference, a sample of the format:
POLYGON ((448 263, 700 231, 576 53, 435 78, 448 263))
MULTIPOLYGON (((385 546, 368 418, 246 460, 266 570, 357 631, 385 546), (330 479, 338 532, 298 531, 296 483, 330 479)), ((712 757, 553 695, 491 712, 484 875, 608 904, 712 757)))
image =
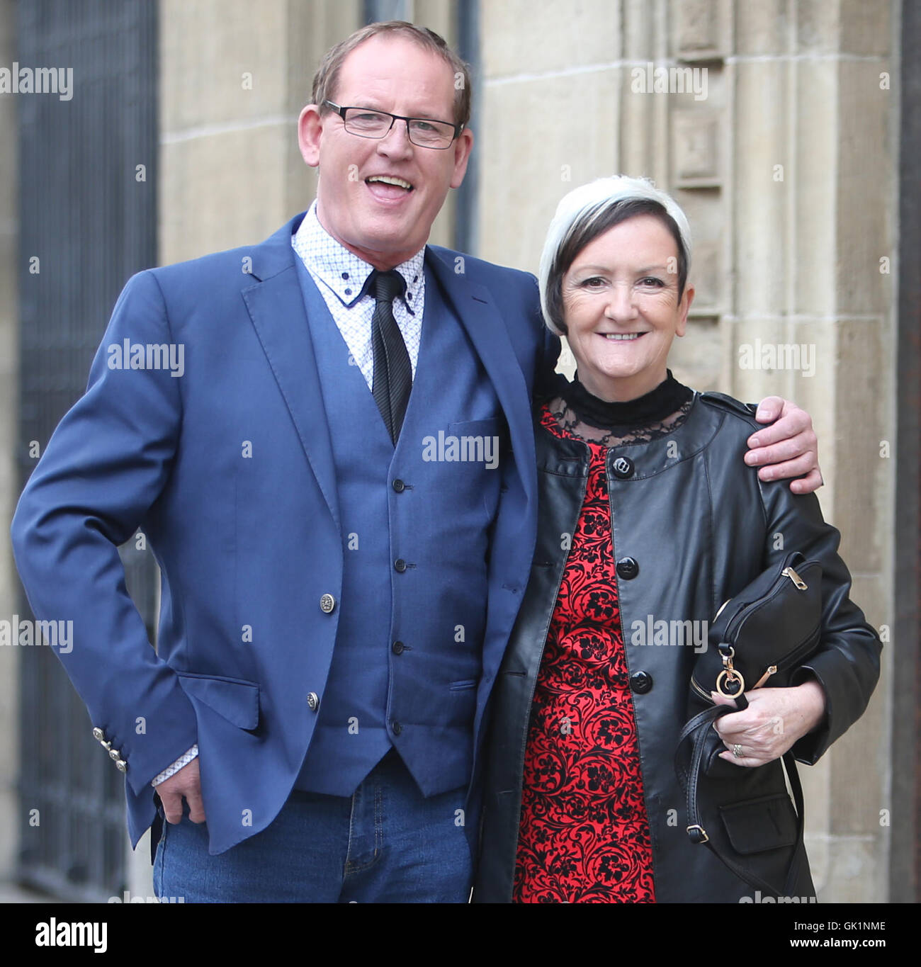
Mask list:
MULTIPOLYGON (((710 692, 717 705, 735 708, 735 699, 710 692)), ((792 689, 756 689, 745 693, 749 707, 717 718, 717 730, 728 751, 720 758, 736 766, 763 766, 779 759, 788 748, 811 732, 825 715, 825 692, 816 682, 792 689), (740 755, 735 755, 733 748, 740 755)))

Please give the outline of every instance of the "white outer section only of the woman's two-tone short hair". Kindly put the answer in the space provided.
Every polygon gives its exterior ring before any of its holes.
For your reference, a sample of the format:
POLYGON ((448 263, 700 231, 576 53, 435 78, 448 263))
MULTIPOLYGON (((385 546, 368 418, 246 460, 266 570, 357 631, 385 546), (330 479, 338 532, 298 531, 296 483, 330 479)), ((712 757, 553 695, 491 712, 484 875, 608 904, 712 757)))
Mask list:
POLYGON ((588 227, 606 215, 617 204, 628 201, 657 201, 674 220, 681 237, 688 269, 691 268, 691 227, 687 217, 671 195, 656 188, 648 178, 630 178, 627 175, 613 175, 610 178, 597 178, 587 185, 580 185, 565 194, 556 206, 556 214, 547 230, 544 250, 541 252, 541 265, 538 279, 541 287, 541 309, 544 321, 551 332, 563 334, 550 318, 547 307, 547 287, 550 271, 566 241, 571 237, 573 228, 579 224, 588 227))

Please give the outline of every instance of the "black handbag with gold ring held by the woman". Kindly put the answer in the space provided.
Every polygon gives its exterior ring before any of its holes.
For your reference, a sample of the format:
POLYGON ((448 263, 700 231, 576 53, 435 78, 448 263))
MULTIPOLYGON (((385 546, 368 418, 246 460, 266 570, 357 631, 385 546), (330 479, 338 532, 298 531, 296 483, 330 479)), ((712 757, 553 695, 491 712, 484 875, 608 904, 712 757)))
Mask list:
POLYGON ((794 756, 787 751, 783 762, 795 813, 783 770, 775 763, 743 770, 721 759, 726 747, 712 726, 717 718, 748 707, 745 691, 788 686, 793 671, 816 651, 821 577, 818 561, 793 552, 723 604, 708 629, 708 647, 695 663, 690 718, 675 752, 691 842, 705 843, 736 876, 773 896, 794 895, 791 891, 804 882, 799 862, 803 794, 794 756), (736 708, 715 705, 711 690, 734 698, 736 708), (771 771, 767 785, 759 786, 761 776, 755 774, 765 770, 771 771), (752 796, 765 788, 766 795, 752 796), (739 795, 748 798, 739 802, 739 795))

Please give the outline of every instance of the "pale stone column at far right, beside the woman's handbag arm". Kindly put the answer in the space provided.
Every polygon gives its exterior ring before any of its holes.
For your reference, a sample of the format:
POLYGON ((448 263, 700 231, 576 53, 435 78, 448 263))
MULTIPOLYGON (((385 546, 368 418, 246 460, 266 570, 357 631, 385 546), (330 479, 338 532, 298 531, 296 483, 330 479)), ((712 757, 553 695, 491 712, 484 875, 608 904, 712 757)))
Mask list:
MULTIPOLYGON (((888 627, 898 151, 892 7, 769 0, 737 3, 733 15, 733 285, 722 320, 728 390, 752 400, 789 396, 813 414, 827 481, 818 493, 822 511, 842 531, 853 599, 871 624, 888 627)), ((887 898, 891 667, 887 644, 867 713, 817 766, 801 770, 822 900, 887 898)))

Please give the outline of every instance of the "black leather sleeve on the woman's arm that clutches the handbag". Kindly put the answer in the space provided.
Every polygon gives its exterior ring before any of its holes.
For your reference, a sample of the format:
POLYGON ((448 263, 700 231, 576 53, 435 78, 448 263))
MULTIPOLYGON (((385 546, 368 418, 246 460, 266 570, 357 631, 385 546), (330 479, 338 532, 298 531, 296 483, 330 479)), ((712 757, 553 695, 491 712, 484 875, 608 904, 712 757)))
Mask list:
POLYGON ((797 686, 815 679, 825 692, 823 721, 792 747, 797 761, 813 765, 863 715, 879 677, 882 645, 848 597, 850 573, 838 555, 841 534, 823 519, 816 494, 793 494, 786 481, 758 481, 758 486, 767 515, 765 568, 793 550, 822 566, 821 641, 790 680, 797 686), (781 549, 775 549, 778 535, 781 549))

